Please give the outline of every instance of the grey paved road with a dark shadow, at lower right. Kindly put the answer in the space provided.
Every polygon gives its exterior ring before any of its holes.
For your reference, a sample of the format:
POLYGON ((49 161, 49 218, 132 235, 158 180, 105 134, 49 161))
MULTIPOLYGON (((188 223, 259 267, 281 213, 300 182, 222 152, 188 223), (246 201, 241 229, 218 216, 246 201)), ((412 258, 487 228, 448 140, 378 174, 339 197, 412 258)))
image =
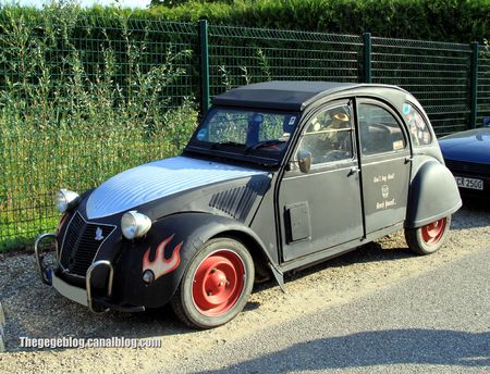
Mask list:
POLYGON ((490 251, 273 329, 217 342, 174 371, 489 373, 490 251))

